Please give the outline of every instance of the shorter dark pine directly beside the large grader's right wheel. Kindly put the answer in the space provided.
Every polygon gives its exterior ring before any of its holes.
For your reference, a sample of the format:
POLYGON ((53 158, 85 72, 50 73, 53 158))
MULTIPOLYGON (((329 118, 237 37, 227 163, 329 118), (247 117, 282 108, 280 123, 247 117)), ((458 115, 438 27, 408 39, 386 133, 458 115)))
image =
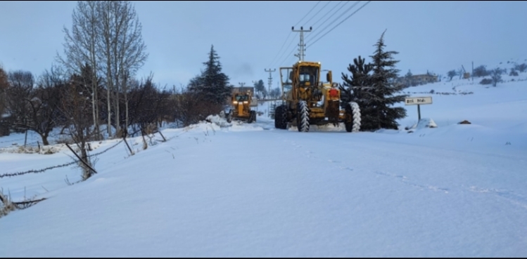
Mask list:
POLYGON ((369 102, 372 95, 372 64, 366 64, 365 59, 359 56, 353 59, 353 65, 348 66, 348 71, 351 77, 342 73, 343 86, 341 89, 341 106, 344 109, 348 102, 357 102, 360 107, 362 124, 361 131, 372 131, 376 125, 372 121, 376 121, 374 107, 369 102))

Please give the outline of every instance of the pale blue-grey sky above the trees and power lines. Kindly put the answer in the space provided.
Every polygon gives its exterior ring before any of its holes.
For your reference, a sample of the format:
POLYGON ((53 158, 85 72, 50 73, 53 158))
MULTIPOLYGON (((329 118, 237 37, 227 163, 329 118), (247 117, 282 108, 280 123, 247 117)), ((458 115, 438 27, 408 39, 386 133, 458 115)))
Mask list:
MULTIPOLYGON (((386 51, 399 52, 395 58, 401 74, 408 69, 413 74, 427 69, 446 74, 461 65, 470 69, 472 61, 490 67, 527 58, 526 1, 372 1, 316 41, 366 3, 361 1, 333 22, 355 1, 343 3, 322 24, 339 2, 322 8, 327 3, 322 1, 300 22, 317 1, 134 1, 149 53, 138 77, 153 72, 162 86, 186 85, 203 69, 214 44, 231 84, 251 85, 262 79, 267 86, 264 69, 298 60, 292 51, 299 34, 289 35, 293 25, 313 27, 305 34, 305 60, 322 62, 323 69, 334 71, 335 81, 341 81, 341 72, 347 73, 353 58, 369 60, 385 29, 386 51)), ((62 54, 62 29, 71 27, 75 6, 76 1, 0 1, 4 69, 29 70, 36 76, 49 69, 56 52, 62 54)), ((278 69, 273 77, 276 87, 278 69)))

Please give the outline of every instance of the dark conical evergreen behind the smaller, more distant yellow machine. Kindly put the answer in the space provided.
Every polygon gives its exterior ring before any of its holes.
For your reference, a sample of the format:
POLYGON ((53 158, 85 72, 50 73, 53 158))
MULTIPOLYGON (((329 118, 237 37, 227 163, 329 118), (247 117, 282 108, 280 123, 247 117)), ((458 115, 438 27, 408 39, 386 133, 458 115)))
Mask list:
POLYGON ((232 86, 229 84, 229 77, 222 72, 220 57, 213 45, 208 55, 208 61, 203 62, 205 70, 198 77, 191 79, 189 91, 198 94, 201 100, 223 104, 231 95, 232 86))

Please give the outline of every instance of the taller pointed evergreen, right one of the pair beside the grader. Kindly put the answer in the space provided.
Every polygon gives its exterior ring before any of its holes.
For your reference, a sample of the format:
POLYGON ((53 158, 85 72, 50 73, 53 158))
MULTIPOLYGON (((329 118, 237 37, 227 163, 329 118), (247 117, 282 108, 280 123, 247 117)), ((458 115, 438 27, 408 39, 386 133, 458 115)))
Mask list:
POLYGON ((376 129, 398 129, 399 124, 396 120, 406 117, 406 109, 404 107, 391 107, 391 105, 405 101, 407 95, 395 94, 400 93, 408 86, 396 82, 400 70, 395 68, 395 64, 399 60, 394 60, 393 55, 398 54, 398 52, 384 51, 386 46, 383 40, 385 32, 386 30, 374 45, 376 46, 374 55, 370 56, 373 59, 372 85, 374 88, 369 97, 372 98, 370 103, 372 103, 376 113, 375 121, 372 123, 376 125, 376 129))

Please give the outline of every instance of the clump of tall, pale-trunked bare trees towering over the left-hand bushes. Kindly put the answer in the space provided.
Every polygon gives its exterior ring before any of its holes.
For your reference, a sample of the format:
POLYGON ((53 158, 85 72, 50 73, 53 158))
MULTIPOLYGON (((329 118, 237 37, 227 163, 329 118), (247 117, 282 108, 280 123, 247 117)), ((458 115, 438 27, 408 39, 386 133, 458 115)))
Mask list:
POLYGON ((113 125, 118 133, 122 124, 120 95, 124 95, 125 117, 128 118, 128 81, 148 57, 139 19, 131 1, 78 1, 72 20, 71 33, 64 29, 65 58, 58 57, 58 60, 68 67, 70 74, 80 74, 85 64, 91 67, 94 77, 90 90, 91 112, 96 131, 99 131, 101 109, 107 114, 101 115, 101 118, 106 117, 108 135, 112 135, 113 125), (97 72, 104 75, 106 108, 98 105, 97 72))

